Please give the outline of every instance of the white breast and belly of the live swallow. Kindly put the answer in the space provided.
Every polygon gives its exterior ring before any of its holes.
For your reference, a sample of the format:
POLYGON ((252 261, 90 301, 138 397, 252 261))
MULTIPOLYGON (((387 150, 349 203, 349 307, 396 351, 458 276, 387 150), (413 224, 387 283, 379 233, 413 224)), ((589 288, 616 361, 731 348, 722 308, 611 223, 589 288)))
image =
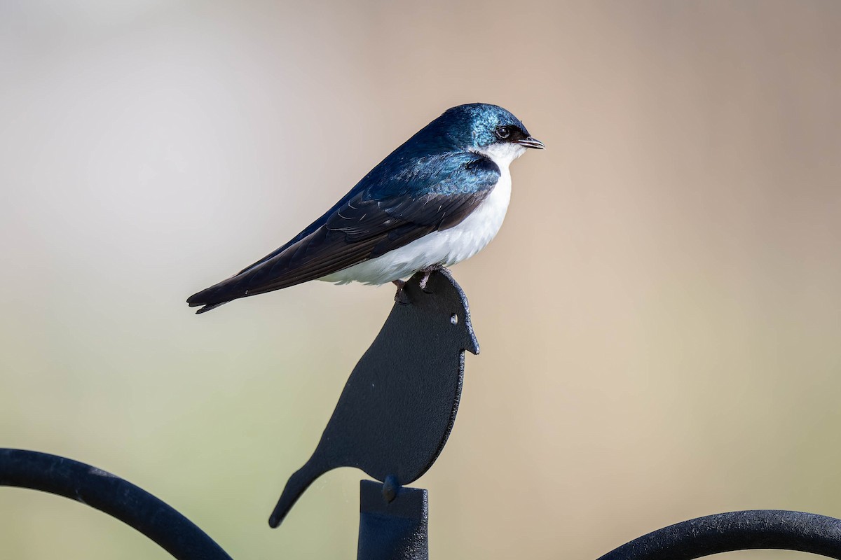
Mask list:
POLYGON ((319 280, 346 284, 385 284, 408 278, 418 270, 441 264, 452 266, 479 253, 502 227, 511 199, 511 175, 508 166, 526 151, 520 145, 494 145, 482 153, 500 168, 500 181, 468 217, 443 231, 432 232, 420 239, 389 251, 375 259, 354 264, 319 280))

